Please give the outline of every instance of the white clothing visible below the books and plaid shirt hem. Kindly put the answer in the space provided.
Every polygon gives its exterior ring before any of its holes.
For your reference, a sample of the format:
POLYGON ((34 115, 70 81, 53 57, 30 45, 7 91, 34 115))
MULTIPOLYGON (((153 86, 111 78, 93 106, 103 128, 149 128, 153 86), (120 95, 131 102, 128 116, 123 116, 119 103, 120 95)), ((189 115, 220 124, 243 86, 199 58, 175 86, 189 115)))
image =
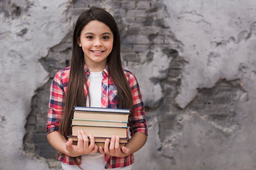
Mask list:
MULTIPOLYGON (((68 165, 61 162, 63 170, 81 170, 76 165, 68 165)), ((106 170, 104 154, 101 153, 91 153, 87 155, 82 155, 81 167, 83 170, 106 170)), ((113 168, 112 170, 132 170, 132 165, 120 168, 113 168)))

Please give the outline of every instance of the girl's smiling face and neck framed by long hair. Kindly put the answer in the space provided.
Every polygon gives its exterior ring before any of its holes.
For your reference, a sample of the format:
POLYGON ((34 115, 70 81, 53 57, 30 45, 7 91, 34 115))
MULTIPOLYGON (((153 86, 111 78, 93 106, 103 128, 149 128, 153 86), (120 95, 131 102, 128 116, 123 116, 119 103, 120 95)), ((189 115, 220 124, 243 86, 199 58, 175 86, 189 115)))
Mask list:
POLYGON ((113 41, 112 31, 103 22, 93 20, 83 28, 77 44, 82 47, 85 64, 91 72, 104 70, 113 41))

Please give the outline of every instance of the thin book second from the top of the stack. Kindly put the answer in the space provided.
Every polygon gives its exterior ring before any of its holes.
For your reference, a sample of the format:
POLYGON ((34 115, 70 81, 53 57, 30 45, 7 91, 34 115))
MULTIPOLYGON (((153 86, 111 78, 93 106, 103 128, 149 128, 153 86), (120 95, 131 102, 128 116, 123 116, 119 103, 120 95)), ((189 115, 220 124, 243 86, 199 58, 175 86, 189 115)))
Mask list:
POLYGON ((110 120, 85 120, 72 119, 72 125, 87 125, 87 126, 112 126, 112 127, 126 127, 128 122, 110 121, 110 120))

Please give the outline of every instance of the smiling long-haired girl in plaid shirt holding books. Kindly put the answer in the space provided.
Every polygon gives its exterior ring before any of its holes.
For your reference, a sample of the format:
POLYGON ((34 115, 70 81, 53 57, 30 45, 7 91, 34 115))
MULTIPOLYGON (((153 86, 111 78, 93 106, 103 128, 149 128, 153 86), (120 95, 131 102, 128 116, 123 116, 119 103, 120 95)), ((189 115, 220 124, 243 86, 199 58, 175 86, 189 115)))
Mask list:
POLYGON ((55 75, 49 100, 47 139, 57 151, 64 170, 131 170, 133 153, 147 140, 144 104, 135 76, 122 68, 120 35, 107 11, 92 7, 76 21, 70 67, 55 75), (104 149, 94 137, 78 131, 78 143, 67 136, 72 132, 74 106, 131 109, 128 144, 119 147, 119 137, 106 139, 104 149), (110 145, 109 145, 110 144, 110 145), (108 147, 109 146, 109 147, 108 147))

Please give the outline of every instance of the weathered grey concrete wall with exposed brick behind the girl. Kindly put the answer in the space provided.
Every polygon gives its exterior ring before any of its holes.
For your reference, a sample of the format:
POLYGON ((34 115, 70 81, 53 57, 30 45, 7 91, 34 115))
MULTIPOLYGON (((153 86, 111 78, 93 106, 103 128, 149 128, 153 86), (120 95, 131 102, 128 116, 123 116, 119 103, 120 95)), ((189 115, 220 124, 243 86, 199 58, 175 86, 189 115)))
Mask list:
POLYGON ((49 85, 69 65, 80 13, 116 19, 149 136, 133 169, 256 169, 255 0, 0 0, 0 170, 59 170, 49 85))

